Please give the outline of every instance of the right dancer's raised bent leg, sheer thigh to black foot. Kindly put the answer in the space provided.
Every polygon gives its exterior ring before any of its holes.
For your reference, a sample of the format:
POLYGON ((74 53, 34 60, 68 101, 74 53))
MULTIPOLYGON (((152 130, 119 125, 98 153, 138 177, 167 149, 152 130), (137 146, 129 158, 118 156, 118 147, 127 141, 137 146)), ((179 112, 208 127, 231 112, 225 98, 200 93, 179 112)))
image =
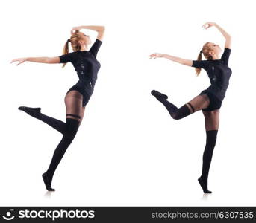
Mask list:
POLYGON ((156 97, 157 100, 159 100, 160 103, 162 103, 163 106, 166 107, 171 117, 175 120, 186 117, 187 115, 201 109, 205 109, 210 103, 210 100, 208 99, 206 94, 198 95, 194 97, 193 100, 190 100, 190 102, 184 104, 184 106, 181 106, 181 108, 178 109, 174 104, 166 100, 167 96, 165 94, 153 90, 152 95, 154 95, 154 97, 156 97))

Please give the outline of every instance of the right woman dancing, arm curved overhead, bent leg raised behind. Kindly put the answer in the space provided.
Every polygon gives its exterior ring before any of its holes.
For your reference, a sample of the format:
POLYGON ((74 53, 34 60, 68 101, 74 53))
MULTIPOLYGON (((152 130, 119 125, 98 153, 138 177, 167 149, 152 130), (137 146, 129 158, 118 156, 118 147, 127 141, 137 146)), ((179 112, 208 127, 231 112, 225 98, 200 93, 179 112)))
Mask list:
POLYGON ((156 57, 163 57, 174 62, 179 62, 182 65, 195 67, 197 75, 199 75, 201 68, 203 68, 207 71, 207 75, 210 78, 210 87, 202 91, 198 96, 194 97, 193 100, 190 100, 190 102, 184 104, 184 106, 181 106, 179 109, 167 101, 168 97, 165 94, 155 90, 152 91, 152 95, 154 95, 160 103, 163 103, 163 106, 166 107, 172 118, 176 120, 186 117, 193 112, 202 110, 205 116, 206 146, 203 155, 202 175, 199 177, 198 181, 204 193, 211 193, 207 188, 207 179, 219 129, 219 109, 222 106, 222 100, 225 97, 229 78, 232 74, 231 68, 228 67, 228 59, 231 53, 231 36, 214 22, 206 22, 205 25, 203 25, 203 28, 207 29, 211 26, 215 26, 225 37, 225 49, 221 59, 219 59, 221 48, 213 42, 205 43, 197 60, 181 59, 167 54, 150 55, 150 58, 153 59, 156 57), (204 54, 207 60, 202 60, 202 54, 204 54))

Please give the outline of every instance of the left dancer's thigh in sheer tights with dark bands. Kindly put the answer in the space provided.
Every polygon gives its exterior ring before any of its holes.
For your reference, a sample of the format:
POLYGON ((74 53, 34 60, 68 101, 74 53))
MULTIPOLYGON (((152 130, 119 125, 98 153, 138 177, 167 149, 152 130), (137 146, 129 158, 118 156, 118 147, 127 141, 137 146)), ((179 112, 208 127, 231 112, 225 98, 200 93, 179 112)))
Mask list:
POLYGON ((82 103, 83 95, 79 91, 67 92, 65 96, 66 117, 81 120, 82 103))

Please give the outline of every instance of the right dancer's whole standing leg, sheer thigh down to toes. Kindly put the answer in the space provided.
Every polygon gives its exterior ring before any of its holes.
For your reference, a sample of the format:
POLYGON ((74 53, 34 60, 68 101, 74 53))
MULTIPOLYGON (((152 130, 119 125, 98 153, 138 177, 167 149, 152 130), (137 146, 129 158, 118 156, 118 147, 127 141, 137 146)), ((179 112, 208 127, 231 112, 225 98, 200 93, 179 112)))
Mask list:
POLYGON ((207 181, 219 129, 219 109, 203 111, 203 113, 205 115, 206 145, 203 154, 202 175, 198 180, 204 193, 211 193, 207 188, 207 181))

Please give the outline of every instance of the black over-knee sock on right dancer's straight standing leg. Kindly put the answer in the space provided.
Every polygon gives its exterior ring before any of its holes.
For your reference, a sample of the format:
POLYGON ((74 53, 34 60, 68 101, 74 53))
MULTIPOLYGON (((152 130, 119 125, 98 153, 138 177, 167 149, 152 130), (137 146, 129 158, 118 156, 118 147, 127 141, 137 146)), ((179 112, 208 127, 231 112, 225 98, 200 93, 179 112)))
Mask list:
POLYGON ((210 169, 210 162, 213 157, 213 149, 216 144, 218 130, 206 131, 206 145, 203 154, 203 165, 202 165, 202 175, 199 178, 199 183, 204 190, 204 193, 211 193, 207 188, 207 181, 210 169))

